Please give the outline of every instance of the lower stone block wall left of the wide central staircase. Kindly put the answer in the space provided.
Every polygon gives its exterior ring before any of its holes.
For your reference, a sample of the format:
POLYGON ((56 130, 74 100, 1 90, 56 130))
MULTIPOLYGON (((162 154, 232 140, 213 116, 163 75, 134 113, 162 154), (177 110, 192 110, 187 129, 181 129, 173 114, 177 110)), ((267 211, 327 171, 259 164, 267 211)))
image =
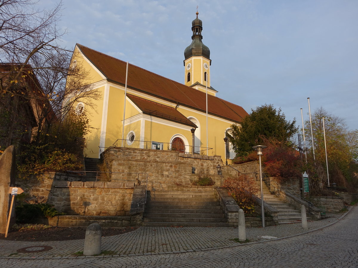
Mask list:
POLYGON ((19 195, 29 203, 54 205, 68 215, 126 216, 129 215, 133 182, 81 182, 81 177, 49 172, 18 179, 19 195))

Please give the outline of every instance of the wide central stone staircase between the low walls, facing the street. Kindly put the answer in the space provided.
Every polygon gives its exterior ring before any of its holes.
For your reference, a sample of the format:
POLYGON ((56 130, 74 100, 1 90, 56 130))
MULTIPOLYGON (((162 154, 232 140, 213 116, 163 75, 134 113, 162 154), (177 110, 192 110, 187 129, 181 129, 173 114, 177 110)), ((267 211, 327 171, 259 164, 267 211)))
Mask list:
POLYGON ((214 189, 208 192, 147 191, 143 225, 229 226, 214 189))

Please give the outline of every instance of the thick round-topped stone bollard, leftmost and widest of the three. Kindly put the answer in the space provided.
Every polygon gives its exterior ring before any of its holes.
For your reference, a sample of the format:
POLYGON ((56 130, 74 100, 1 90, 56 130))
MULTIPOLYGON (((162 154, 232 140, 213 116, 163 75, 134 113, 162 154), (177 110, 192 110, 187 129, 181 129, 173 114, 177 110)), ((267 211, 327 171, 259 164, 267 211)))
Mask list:
POLYGON ((101 254, 102 228, 98 223, 89 224, 84 238, 83 255, 91 256, 101 254))

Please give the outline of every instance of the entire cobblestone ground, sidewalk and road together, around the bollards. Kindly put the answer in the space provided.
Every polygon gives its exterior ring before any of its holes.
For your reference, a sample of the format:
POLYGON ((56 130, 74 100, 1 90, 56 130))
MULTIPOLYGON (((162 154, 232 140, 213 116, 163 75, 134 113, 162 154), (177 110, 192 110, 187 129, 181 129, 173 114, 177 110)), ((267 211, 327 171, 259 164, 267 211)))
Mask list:
POLYGON ((74 257, 83 240, 0 240, 0 267, 358 267, 358 209, 331 216, 308 230, 300 223, 246 228, 246 244, 230 240, 238 236, 232 227, 141 227, 102 238, 102 250, 116 254, 106 256, 74 257), (16 252, 42 245, 52 249, 16 252))

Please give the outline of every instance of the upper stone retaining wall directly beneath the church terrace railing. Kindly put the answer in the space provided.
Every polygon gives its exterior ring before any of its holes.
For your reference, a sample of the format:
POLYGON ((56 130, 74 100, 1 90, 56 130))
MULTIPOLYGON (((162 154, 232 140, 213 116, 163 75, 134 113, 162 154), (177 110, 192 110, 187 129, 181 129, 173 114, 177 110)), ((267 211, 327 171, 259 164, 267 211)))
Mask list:
POLYGON ((111 180, 133 180, 138 176, 143 184, 146 182, 144 173, 147 173, 149 189, 166 190, 174 185, 189 186, 201 175, 212 177, 216 182, 214 186, 222 183, 222 177, 217 174, 216 169, 221 164, 221 157, 217 155, 124 147, 109 147, 103 155, 112 172, 117 172, 112 174, 111 180))

